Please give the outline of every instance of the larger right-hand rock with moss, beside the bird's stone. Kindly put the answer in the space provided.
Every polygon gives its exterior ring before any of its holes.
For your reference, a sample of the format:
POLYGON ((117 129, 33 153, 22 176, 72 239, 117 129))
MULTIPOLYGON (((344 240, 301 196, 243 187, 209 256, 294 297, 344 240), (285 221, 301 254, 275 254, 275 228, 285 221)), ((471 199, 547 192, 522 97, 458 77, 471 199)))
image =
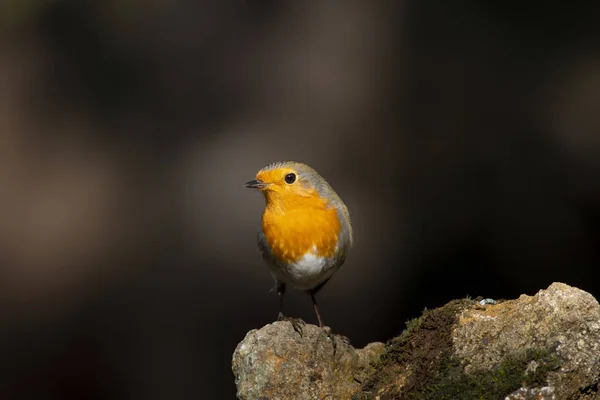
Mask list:
POLYGON ((600 305, 554 283, 535 296, 455 300, 408 323, 356 399, 600 398, 600 305))

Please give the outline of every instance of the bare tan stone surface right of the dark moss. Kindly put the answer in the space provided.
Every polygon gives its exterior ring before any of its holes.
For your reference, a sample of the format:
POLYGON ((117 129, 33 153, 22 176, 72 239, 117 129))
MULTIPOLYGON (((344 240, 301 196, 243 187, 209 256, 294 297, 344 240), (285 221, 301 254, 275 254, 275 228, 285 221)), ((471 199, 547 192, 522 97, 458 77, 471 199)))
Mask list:
MULTIPOLYGON (((535 296, 463 311, 452 339, 466 373, 490 370, 523 349, 550 351, 560 368, 548 372, 554 395, 544 398, 571 398, 600 376, 600 307, 591 294, 563 283, 535 296)), ((538 367, 532 361, 526 373, 538 367)))

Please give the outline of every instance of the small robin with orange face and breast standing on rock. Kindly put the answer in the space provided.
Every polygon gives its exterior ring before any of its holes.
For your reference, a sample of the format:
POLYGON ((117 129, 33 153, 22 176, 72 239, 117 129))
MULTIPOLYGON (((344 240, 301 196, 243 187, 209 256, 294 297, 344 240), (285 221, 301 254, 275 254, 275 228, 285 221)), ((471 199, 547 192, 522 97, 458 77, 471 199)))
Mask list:
POLYGON ((279 319, 286 285, 306 292, 319 326, 323 319, 315 294, 342 266, 352 246, 348 208, 317 171, 293 161, 267 165, 244 187, 266 200, 258 249, 275 279, 279 319))

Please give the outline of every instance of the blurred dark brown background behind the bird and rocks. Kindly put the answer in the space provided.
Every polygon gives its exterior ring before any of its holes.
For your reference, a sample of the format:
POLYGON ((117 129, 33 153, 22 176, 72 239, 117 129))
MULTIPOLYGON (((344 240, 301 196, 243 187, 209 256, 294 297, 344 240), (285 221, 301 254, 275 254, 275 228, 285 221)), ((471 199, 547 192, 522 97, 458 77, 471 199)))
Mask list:
MULTIPOLYGON (((350 208, 353 345, 454 298, 600 295, 599 2, 4 0, 0 398, 232 399, 277 314, 258 169, 350 208)), ((288 314, 315 323, 290 291, 288 314)))

